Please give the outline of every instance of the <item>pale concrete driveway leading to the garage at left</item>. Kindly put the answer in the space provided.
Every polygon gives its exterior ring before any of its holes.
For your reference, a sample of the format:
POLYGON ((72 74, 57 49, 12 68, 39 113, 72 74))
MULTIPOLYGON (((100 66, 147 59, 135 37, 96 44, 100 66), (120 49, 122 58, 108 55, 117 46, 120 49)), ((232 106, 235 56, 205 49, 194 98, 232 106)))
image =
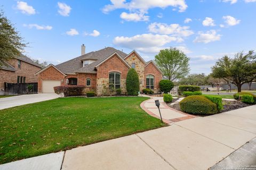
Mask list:
POLYGON ((57 94, 32 94, 0 98, 0 110, 58 98, 57 94))

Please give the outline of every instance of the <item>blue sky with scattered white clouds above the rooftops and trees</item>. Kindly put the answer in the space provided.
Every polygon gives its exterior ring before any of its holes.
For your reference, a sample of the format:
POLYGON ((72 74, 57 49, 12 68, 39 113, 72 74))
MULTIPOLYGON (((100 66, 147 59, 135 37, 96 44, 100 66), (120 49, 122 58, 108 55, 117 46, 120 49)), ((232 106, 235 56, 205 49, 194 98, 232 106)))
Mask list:
POLYGON ((177 47, 190 73, 210 73, 223 55, 256 49, 256 0, 2 0, 29 43, 26 55, 58 64, 111 46, 153 60, 177 47))

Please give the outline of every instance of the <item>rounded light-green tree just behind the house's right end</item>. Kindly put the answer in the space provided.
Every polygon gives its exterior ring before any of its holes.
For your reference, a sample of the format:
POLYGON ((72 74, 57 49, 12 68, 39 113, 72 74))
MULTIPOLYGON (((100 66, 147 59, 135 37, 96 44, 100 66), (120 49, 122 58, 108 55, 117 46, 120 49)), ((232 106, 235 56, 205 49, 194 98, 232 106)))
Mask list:
POLYGON ((155 56, 155 63, 163 72, 165 79, 176 81, 189 73, 189 58, 177 48, 160 50, 155 56))

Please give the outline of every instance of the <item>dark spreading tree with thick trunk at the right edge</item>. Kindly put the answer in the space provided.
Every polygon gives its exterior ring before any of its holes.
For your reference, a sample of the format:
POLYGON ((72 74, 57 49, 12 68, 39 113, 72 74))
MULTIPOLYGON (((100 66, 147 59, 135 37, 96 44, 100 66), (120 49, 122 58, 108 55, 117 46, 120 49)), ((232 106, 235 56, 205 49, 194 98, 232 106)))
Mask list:
POLYGON ((234 58, 223 56, 212 67, 212 77, 223 78, 228 83, 234 83, 238 92, 242 85, 256 78, 256 55, 253 51, 235 54, 234 58))

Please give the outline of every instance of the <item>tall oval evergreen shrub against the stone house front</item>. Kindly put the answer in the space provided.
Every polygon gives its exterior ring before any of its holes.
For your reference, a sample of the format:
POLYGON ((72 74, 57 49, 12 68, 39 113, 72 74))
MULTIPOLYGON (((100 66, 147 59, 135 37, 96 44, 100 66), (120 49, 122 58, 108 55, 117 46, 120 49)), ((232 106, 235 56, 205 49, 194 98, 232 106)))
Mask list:
POLYGON ((138 96, 140 91, 139 76, 135 69, 130 69, 126 76, 126 90, 129 96, 138 96))

